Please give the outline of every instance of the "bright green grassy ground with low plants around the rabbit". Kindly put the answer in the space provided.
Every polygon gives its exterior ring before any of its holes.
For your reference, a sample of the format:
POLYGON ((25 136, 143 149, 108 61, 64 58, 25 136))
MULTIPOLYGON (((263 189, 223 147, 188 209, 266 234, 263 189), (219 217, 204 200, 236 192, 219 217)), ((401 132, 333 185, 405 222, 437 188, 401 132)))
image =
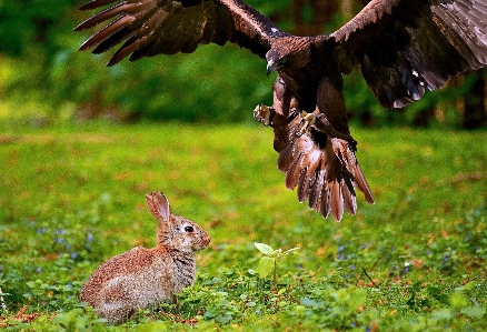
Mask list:
POLYGON ((485 331, 484 132, 354 130, 376 204, 299 204, 259 125, 91 123, 0 135, 0 328, 11 331, 485 331), (78 302, 103 260, 155 245, 145 193, 212 237, 177 305, 107 328, 78 302), (278 291, 255 272, 282 250, 278 291), (22 309, 23 306, 23 309, 22 309))

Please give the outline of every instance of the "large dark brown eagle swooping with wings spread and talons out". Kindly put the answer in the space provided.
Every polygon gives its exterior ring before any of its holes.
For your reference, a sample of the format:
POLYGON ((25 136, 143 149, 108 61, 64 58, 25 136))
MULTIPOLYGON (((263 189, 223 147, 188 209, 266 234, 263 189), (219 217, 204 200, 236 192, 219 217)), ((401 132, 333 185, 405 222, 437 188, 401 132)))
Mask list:
POLYGON ((275 133, 278 169, 299 202, 340 221, 357 211, 356 189, 374 203, 350 135, 342 74, 359 70, 387 109, 419 100, 451 77, 487 63, 487 0, 371 0, 331 33, 298 37, 241 0, 91 0, 99 12, 82 31, 106 22, 80 50, 107 66, 129 57, 191 53, 199 44, 236 43, 277 72, 272 105, 254 118, 275 133), (102 8, 102 9, 100 9, 102 8))

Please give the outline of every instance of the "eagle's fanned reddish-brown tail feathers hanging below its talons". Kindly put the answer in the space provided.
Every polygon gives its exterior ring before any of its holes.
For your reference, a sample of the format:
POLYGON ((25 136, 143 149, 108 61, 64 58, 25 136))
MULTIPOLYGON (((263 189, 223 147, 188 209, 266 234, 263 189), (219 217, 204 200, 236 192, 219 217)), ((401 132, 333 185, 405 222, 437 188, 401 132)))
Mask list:
POLYGON ((310 209, 327 218, 330 212, 340 221, 344 210, 357 212, 355 188, 365 194, 368 203, 374 203, 370 188, 355 157, 354 148, 344 139, 329 137, 315 129, 296 137, 298 122, 289 128, 275 128, 276 139, 282 147, 278 158, 278 169, 286 173, 286 187, 297 188, 299 202, 308 199, 310 209), (286 132, 284 132, 286 131, 286 132), (281 138, 289 140, 284 144, 281 138))

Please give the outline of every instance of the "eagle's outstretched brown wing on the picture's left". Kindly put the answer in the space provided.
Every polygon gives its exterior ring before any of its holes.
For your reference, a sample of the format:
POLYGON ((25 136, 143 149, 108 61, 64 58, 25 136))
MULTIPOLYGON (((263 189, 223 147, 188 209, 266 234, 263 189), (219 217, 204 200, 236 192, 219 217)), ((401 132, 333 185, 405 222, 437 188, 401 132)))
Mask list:
POLYGON ((123 42, 107 66, 128 56, 136 61, 160 53, 191 53, 198 44, 223 46, 227 41, 264 58, 272 39, 285 34, 240 0, 91 0, 80 10, 107 4, 110 7, 74 28, 87 30, 111 20, 80 47, 102 53, 123 42))

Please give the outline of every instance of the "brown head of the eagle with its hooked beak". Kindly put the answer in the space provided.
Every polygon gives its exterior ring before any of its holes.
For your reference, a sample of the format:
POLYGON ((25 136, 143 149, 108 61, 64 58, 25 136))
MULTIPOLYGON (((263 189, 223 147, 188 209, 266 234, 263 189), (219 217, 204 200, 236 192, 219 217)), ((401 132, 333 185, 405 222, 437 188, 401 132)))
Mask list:
POLYGON ((310 59, 310 48, 307 38, 284 37, 276 40, 266 53, 267 74, 286 69, 300 69, 310 59))

